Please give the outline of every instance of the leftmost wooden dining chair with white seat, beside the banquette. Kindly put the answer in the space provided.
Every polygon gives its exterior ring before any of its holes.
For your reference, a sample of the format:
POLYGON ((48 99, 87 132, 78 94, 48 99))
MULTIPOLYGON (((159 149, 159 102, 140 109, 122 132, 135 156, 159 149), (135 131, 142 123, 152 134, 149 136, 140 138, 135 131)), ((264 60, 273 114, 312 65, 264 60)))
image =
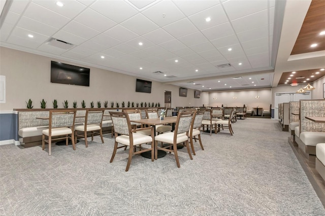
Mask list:
POLYGON ((74 139, 75 120, 76 110, 64 110, 64 112, 50 110, 49 129, 43 130, 42 132, 42 150, 45 150, 45 142, 49 143, 49 155, 51 155, 53 140, 66 139, 66 145, 68 146, 69 138, 72 140, 73 150, 76 150, 74 139))

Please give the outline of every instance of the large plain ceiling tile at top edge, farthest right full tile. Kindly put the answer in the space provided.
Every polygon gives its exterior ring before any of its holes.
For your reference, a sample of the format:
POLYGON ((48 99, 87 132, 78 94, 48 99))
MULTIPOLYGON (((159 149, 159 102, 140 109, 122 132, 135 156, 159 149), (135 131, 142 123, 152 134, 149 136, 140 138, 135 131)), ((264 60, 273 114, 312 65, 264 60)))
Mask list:
POLYGON ((258 11, 268 8, 268 0, 251 0, 251 1, 237 1, 230 0, 222 3, 222 6, 230 20, 235 20, 258 11))

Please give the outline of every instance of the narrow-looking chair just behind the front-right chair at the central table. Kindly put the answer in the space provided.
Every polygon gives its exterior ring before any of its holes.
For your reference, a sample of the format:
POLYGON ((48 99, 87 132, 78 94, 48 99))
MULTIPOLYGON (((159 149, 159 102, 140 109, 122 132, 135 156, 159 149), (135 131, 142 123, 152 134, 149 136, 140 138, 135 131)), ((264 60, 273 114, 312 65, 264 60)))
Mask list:
POLYGON ((190 142, 190 145, 191 145, 193 155, 196 155, 196 153, 194 151, 193 139, 195 141, 199 140, 201 149, 204 150, 203 145, 202 145, 202 141, 201 141, 201 126, 202 126, 202 120, 203 120, 204 113, 205 113, 204 110, 196 111, 193 114, 193 118, 192 118, 192 121, 191 121, 191 126, 190 126, 190 129, 189 129, 188 137, 189 137, 189 142, 190 142))

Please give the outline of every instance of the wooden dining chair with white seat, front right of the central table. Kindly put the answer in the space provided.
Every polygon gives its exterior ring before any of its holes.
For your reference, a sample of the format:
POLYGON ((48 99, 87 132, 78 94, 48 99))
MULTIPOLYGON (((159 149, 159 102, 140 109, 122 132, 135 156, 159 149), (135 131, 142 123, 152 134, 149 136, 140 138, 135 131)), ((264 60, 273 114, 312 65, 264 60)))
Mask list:
POLYGON ((192 121, 192 117, 195 111, 191 112, 179 112, 177 115, 175 130, 173 132, 161 133, 154 137, 155 139, 155 159, 157 159, 157 151, 163 150, 165 152, 174 152, 177 167, 180 167, 177 144, 185 143, 184 146, 187 149, 189 158, 192 160, 192 154, 188 145, 189 127, 192 121), (164 147, 158 147, 158 141, 167 143, 164 147))

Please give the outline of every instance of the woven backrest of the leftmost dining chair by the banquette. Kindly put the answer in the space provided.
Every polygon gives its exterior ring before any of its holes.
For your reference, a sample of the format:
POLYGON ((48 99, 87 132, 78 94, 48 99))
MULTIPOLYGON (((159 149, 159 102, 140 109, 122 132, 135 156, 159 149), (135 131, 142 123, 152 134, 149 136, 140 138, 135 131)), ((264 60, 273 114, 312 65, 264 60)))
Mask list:
POLYGON ((76 119, 76 110, 64 110, 64 112, 50 110, 49 115, 49 130, 59 127, 72 127, 73 130, 76 119))

